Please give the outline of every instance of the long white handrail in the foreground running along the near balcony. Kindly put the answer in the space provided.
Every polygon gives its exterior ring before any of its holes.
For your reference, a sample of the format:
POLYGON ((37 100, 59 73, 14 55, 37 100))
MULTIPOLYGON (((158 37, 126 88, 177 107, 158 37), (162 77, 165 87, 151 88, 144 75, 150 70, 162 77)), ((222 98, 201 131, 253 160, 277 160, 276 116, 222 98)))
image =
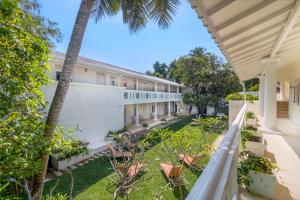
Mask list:
POLYGON ((237 162, 240 133, 246 111, 247 104, 245 103, 186 198, 187 200, 237 199, 237 162))

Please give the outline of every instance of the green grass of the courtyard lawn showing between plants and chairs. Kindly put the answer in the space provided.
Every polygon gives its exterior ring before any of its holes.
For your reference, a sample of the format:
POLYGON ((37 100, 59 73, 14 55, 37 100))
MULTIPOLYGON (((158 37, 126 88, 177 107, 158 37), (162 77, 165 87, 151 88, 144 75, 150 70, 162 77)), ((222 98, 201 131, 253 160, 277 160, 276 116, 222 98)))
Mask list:
MULTIPOLYGON (((198 126, 190 125, 190 123, 191 118, 185 118, 169 125, 167 128, 173 131, 184 130, 187 133, 195 134, 197 138, 195 142, 196 148, 198 148, 198 151, 201 151, 204 144, 203 131, 198 126)), ((209 141, 213 142, 218 137, 218 134, 211 134, 209 141)), ((160 160, 163 158, 159 158, 157 151, 161 151, 161 144, 153 146, 145 153, 147 171, 140 177, 144 181, 139 183, 136 190, 131 191, 130 199, 152 200, 157 194, 163 194, 163 199, 178 199, 178 191, 166 187, 167 180, 159 167, 160 160)), ((207 159, 202 160, 202 162, 206 163, 207 159)), ((76 168, 72 171, 72 174, 75 180, 73 189, 73 197, 75 199, 113 199, 112 193, 107 188, 110 187, 111 183, 109 177, 114 173, 106 158, 95 159, 84 166, 76 168)), ((183 176, 188 181, 187 187, 184 189, 184 195, 186 196, 196 182, 199 174, 184 167, 183 176)), ((63 174, 59 179, 55 193, 69 194, 70 175, 63 174)), ((54 183, 55 181, 47 182, 45 192, 48 192, 54 183)))

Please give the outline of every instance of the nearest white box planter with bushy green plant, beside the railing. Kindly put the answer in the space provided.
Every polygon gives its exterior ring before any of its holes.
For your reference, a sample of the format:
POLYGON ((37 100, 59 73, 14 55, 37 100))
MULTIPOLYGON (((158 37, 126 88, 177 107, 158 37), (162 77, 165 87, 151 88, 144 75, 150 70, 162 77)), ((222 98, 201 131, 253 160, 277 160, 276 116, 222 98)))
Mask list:
POLYGON ((270 159, 244 151, 240 154, 238 163, 238 183, 250 192, 275 199, 276 169, 277 165, 270 159))

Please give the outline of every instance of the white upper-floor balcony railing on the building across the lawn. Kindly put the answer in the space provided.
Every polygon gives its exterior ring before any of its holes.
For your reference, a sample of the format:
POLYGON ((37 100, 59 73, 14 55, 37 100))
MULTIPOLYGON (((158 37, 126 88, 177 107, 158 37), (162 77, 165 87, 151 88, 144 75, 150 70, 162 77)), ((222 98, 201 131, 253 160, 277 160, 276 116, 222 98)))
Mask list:
POLYGON ((180 101, 181 93, 125 90, 125 104, 180 101))

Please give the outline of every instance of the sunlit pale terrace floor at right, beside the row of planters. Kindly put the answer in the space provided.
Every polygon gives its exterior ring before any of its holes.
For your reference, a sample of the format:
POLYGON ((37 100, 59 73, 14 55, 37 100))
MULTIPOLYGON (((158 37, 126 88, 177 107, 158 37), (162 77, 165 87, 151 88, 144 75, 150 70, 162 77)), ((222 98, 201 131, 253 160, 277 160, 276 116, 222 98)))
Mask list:
POLYGON ((279 167, 278 199, 300 200, 300 126, 288 118, 279 118, 277 128, 280 134, 264 133, 263 137, 268 157, 279 167))

